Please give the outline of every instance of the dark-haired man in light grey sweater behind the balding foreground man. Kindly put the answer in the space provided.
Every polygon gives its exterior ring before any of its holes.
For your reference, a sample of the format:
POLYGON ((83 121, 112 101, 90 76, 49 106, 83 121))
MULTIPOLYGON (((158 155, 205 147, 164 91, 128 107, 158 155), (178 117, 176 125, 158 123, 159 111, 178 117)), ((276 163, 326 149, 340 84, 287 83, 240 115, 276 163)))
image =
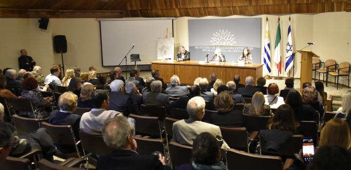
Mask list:
MULTIPOLYGON (((101 135, 102 125, 107 119, 123 116, 123 114, 114 110, 107 110, 109 108, 109 95, 105 90, 94 91, 91 101, 93 109, 82 115, 79 128, 87 134, 101 135)), ((135 126, 134 119, 128 118, 128 120, 135 126)))

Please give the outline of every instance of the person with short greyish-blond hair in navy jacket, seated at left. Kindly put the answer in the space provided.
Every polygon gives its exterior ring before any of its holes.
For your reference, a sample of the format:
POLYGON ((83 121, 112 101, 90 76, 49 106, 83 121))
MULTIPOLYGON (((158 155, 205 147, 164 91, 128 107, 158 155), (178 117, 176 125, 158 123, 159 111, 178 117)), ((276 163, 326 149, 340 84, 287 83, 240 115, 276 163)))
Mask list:
MULTIPOLYGON (((77 109, 78 96, 72 92, 65 92, 59 97, 59 110, 54 110, 50 115, 50 124, 53 125, 71 125, 77 141, 79 140, 79 122, 80 116, 75 114, 77 109)), ((76 152, 75 146, 58 145, 62 153, 76 152)))

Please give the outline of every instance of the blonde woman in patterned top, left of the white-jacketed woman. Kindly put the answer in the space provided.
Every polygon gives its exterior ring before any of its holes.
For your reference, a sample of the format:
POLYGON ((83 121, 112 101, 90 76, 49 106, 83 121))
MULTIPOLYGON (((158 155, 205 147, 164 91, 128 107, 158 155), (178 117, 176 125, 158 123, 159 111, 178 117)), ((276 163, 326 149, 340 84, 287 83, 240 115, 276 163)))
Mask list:
POLYGON ((271 107, 265 104, 265 98, 262 92, 257 91, 251 103, 244 105, 243 114, 252 116, 272 116, 271 107))

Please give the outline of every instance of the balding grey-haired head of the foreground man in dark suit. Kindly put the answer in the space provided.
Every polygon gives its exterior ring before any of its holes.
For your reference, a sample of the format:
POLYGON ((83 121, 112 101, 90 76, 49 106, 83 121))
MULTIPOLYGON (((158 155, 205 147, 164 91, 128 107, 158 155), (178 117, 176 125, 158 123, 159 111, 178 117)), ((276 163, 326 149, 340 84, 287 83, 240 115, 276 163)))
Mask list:
POLYGON ((124 116, 116 116, 105 121, 102 126, 102 137, 106 145, 114 150, 125 149, 127 138, 132 136, 134 128, 124 116))

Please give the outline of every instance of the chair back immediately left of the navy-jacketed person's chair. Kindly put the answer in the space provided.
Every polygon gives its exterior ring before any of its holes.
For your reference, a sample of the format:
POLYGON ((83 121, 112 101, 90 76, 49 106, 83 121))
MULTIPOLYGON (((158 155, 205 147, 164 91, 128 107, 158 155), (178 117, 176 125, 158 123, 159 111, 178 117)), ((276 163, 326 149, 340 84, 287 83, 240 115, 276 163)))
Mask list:
POLYGON ((31 133, 40 128, 40 122, 44 119, 25 118, 19 115, 12 115, 18 133, 31 133))

